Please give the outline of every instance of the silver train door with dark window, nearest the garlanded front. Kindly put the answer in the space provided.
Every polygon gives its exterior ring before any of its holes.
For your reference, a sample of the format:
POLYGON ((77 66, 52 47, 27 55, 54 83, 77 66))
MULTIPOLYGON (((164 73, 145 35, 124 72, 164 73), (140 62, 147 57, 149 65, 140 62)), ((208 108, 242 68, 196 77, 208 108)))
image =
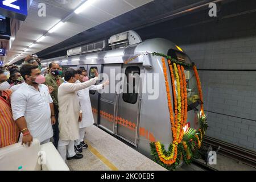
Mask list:
POLYGON ((123 92, 119 94, 116 135, 137 146, 139 130, 139 112, 141 107, 141 81, 139 75, 144 72, 142 65, 124 64, 122 73, 126 77, 123 92))

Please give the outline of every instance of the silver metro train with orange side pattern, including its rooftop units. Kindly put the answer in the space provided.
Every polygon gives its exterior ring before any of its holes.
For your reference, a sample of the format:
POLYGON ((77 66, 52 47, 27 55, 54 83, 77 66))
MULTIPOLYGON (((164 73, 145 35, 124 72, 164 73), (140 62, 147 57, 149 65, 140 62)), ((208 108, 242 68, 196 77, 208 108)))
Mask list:
MULTIPOLYGON (((180 47, 170 40, 154 38, 142 41, 134 31, 113 35, 109 38, 108 44, 112 48, 109 51, 104 51, 106 48, 105 41, 91 43, 68 50, 67 56, 42 60, 42 65, 47 67, 49 63, 55 61, 63 67, 64 71, 67 68, 84 67, 88 71, 89 78, 94 76, 94 69, 109 77, 112 77, 111 70, 113 69, 115 73, 125 73, 127 76, 142 75, 143 73, 141 81, 135 82, 134 89, 143 88, 147 82, 145 77, 148 75, 158 75, 152 78, 155 87, 157 87, 155 90, 159 88, 159 93, 155 93, 157 98, 154 99, 149 99, 153 97, 152 93, 141 92, 141 89, 138 93, 135 90, 133 93, 119 93, 118 90, 115 90, 114 93, 90 91, 95 125, 124 140, 143 155, 151 158, 150 142, 160 141, 165 146, 172 143, 170 111, 168 110, 162 57, 153 56, 152 53, 163 53, 188 64, 191 64, 191 60, 180 47)), ((168 82, 171 83, 170 73, 167 72, 167 76, 168 82)), ((192 68, 185 68, 185 78, 188 101, 190 101, 191 98, 199 95, 192 68)), ((110 84, 116 85, 120 80, 112 81, 110 79, 110 84)), ((102 78, 100 77, 96 84, 101 81, 102 78)), ((125 85, 129 84, 129 79, 125 78, 123 81, 125 85)), ((105 89, 109 88, 110 86, 105 87, 105 89)), ((172 95, 171 88, 170 93, 172 95)), ((199 105, 195 105, 187 113, 187 121, 190 127, 195 129, 197 128, 197 113, 200 112, 199 105)))

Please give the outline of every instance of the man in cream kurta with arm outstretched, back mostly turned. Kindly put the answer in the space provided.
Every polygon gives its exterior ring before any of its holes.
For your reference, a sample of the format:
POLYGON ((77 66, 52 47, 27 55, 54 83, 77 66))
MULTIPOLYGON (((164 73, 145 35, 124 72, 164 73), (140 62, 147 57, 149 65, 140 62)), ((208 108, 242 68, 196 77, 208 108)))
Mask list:
POLYGON ((81 159, 83 156, 76 154, 74 148, 75 140, 79 139, 80 104, 77 91, 95 84, 98 77, 75 84, 78 75, 74 69, 68 69, 64 77, 67 82, 61 84, 58 90, 60 130, 58 151, 64 160, 67 150, 68 160, 81 159))

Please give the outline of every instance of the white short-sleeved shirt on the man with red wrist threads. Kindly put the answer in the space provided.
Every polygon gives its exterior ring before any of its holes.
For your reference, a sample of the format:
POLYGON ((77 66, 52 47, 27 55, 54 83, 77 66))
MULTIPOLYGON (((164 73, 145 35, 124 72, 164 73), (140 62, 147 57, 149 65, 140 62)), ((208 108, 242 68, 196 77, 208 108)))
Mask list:
MULTIPOLYGON (((40 84, 39 90, 26 83, 21 85, 11 96, 14 121, 24 117, 31 135, 41 144, 49 142, 53 136, 51 124, 52 98, 46 85, 40 84)), ((19 142, 23 135, 20 135, 19 142)))

